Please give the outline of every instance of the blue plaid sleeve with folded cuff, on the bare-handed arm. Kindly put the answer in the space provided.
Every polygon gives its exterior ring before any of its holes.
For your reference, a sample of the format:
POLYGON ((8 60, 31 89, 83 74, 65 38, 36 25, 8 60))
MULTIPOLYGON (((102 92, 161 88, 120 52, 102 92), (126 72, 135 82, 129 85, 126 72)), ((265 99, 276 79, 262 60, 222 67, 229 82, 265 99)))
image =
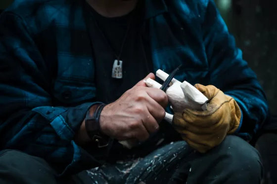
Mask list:
POLYGON ((74 142, 87 110, 52 107, 51 81, 40 51, 24 20, 0 16, 0 149, 17 149, 54 164, 59 175, 98 167, 101 155, 89 154, 74 142))

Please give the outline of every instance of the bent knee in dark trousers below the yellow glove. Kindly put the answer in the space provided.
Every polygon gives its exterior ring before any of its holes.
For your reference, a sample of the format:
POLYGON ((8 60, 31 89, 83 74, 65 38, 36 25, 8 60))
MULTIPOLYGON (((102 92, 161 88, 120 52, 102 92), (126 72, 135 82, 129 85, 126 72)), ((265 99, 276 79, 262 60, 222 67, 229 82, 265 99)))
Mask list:
POLYGON ((260 184, 262 180, 258 151, 239 137, 227 136, 210 151, 190 156, 181 169, 188 174, 187 183, 260 184))

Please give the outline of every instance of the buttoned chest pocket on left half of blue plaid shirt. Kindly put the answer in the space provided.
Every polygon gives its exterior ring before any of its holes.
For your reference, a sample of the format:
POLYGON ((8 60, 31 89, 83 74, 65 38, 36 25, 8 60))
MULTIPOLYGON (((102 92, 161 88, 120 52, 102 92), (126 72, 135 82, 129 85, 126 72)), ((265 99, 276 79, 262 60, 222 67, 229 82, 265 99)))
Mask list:
POLYGON ((70 106, 91 101, 96 94, 92 58, 60 55, 52 86, 57 103, 70 106))

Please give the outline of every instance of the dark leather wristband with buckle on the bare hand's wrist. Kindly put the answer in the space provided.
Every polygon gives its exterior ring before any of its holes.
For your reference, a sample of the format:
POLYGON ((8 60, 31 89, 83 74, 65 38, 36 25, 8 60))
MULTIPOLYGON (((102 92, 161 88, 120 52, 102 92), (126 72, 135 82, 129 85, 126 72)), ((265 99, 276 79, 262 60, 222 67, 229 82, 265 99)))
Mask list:
POLYGON ((85 118, 86 131, 92 142, 97 144, 97 147, 107 147, 109 145, 109 137, 104 135, 100 130, 100 114, 105 104, 97 104, 88 110, 85 118))

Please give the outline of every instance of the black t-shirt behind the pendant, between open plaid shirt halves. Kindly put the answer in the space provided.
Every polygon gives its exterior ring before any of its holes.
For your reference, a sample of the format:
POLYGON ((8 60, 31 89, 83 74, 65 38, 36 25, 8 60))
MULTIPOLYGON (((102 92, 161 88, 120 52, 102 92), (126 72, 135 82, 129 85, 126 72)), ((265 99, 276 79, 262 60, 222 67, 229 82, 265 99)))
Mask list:
POLYGON ((146 59, 141 36, 141 9, 138 6, 128 15, 116 18, 106 18, 92 7, 89 9, 89 32, 95 59, 96 100, 108 104, 117 100, 150 72, 147 63, 149 59, 146 59), (123 61, 123 78, 112 78, 113 63, 120 53, 126 33, 128 35, 120 57, 123 61))

